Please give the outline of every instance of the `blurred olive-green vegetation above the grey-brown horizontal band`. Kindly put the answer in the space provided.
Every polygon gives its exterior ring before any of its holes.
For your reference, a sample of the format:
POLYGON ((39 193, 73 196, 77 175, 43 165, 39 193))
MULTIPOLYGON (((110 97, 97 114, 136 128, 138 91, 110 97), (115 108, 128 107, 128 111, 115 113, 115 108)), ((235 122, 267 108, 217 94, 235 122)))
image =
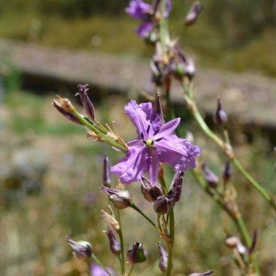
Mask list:
MULTIPOLYGON (((276 1, 208 0, 195 26, 181 23, 193 1, 173 1, 172 34, 197 64, 276 75, 276 1)), ((45 46, 149 57, 135 37, 127 0, 2 0, 0 36, 45 46), (20 22, 20 23, 19 23, 20 22), (14 28, 14 26, 17 26, 14 28)))

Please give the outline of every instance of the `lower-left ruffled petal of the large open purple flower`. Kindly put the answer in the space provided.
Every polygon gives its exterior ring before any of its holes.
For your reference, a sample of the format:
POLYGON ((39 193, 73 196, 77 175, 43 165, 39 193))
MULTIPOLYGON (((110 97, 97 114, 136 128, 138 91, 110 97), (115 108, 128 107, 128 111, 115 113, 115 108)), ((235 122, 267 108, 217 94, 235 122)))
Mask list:
POLYGON ((126 157, 122 158, 115 166, 112 166, 110 171, 115 175, 119 175, 120 181, 124 184, 139 181, 143 173, 146 172, 146 156, 146 148, 130 148, 126 153, 126 157))

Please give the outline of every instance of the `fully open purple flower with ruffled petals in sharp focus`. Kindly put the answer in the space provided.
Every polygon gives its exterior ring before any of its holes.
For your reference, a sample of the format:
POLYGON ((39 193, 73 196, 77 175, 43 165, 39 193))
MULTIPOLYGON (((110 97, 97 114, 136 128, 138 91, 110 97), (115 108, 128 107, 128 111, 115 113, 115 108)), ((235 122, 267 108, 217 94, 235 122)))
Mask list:
POLYGON ((195 168, 199 148, 172 134, 179 125, 179 118, 162 125, 152 103, 138 105, 136 101, 130 101, 125 112, 135 125, 138 137, 128 142, 126 156, 111 168, 122 183, 139 181, 148 173, 150 184, 155 185, 160 162, 170 164, 175 171, 195 168))

